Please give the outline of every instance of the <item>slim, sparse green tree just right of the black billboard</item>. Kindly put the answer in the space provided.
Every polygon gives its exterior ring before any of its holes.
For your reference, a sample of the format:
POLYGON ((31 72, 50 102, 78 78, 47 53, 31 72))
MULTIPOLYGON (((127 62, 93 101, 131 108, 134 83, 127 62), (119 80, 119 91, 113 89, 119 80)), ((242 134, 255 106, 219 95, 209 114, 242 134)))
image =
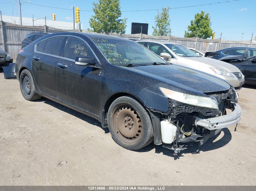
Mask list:
POLYGON ((171 19, 169 19, 169 7, 162 9, 161 13, 155 16, 155 27, 153 28, 154 36, 167 36, 171 35, 171 19))

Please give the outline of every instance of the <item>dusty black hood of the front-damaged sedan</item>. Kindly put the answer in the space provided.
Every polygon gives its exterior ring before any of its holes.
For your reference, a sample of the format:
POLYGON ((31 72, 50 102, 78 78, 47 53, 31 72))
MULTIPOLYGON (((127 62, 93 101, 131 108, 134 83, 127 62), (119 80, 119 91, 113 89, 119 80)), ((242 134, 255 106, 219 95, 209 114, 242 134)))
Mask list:
POLYGON ((155 78, 159 83, 165 83, 166 88, 183 93, 208 93, 225 91, 230 88, 228 83, 220 78, 178 65, 148 65, 125 68, 155 78))

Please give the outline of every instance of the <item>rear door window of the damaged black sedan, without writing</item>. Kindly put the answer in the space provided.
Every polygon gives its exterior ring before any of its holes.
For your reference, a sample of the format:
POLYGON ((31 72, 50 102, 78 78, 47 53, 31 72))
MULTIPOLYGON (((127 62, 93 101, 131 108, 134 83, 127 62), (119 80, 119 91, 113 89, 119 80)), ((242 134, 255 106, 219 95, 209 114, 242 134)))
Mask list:
POLYGON ((43 53, 60 56, 60 46, 65 37, 53 37, 47 39, 43 53))

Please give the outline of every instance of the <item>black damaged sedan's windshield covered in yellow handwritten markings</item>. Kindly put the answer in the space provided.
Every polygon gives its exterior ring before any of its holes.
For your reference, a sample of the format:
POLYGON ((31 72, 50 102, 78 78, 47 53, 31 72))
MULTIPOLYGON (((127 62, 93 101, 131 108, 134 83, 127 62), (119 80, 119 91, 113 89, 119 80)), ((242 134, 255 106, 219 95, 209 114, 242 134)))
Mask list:
POLYGON ((114 38, 92 38, 92 40, 113 65, 147 65, 154 62, 167 64, 150 50, 133 41, 114 38))

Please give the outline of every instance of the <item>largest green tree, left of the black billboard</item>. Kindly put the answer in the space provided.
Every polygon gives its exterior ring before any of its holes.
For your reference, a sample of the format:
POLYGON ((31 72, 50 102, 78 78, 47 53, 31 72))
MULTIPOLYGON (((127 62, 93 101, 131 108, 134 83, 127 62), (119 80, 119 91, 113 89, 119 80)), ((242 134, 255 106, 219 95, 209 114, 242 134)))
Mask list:
POLYGON ((120 19, 120 0, 99 0, 92 4, 95 15, 91 16, 89 23, 94 32, 125 33, 127 18, 120 19))

